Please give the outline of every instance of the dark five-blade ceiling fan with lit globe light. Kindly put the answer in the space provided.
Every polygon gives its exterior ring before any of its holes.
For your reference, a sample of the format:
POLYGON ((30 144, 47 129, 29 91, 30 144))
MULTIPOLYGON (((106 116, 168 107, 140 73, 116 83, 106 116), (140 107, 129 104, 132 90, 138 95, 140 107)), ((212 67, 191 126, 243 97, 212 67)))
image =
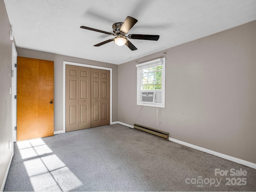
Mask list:
POLYGON ((85 27, 85 26, 81 26, 80 28, 116 36, 115 38, 112 38, 112 39, 109 39, 109 40, 106 40, 104 42, 94 45, 96 47, 102 46, 106 43, 114 41, 118 46, 123 46, 125 44, 128 48, 130 48, 132 51, 134 51, 137 48, 129 40, 127 40, 127 38, 135 39, 135 40, 152 40, 152 41, 157 41, 159 39, 158 35, 130 34, 130 35, 126 36, 126 34, 136 24, 136 22, 138 22, 138 20, 136 20, 130 16, 127 16, 123 23, 118 22, 118 23, 114 23, 112 25, 112 29, 113 29, 114 33, 105 32, 102 30, 97 30, 97 29, 85 27))

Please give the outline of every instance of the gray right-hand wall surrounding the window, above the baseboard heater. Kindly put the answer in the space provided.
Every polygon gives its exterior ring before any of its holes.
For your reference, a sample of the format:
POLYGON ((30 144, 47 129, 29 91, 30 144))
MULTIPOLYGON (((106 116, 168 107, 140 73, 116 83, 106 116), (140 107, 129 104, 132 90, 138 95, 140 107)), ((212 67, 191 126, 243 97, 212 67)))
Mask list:
POLYGON ((156 107, 136 105, 137 60, 118 65, 118 121, 256 163, 255 55, 253 21, 138 59, 166 57, 158 125, 156 107))

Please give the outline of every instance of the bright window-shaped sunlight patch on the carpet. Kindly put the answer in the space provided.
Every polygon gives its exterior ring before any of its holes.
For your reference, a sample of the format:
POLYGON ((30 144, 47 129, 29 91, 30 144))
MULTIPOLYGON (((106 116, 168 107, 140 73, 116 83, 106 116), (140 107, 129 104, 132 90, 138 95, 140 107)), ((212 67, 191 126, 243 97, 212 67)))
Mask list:
POLYGON ((70 191, 83 185, 42 139, 17 146, 34 191, 70 191))

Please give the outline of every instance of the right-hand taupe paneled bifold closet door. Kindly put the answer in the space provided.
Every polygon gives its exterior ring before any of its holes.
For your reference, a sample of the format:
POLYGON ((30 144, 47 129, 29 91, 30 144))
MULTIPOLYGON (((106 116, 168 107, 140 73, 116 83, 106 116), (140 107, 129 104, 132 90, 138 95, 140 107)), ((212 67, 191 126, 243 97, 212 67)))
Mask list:
POLYGON ((110 124, 110 71, 91 69, 91 127, 110 124))

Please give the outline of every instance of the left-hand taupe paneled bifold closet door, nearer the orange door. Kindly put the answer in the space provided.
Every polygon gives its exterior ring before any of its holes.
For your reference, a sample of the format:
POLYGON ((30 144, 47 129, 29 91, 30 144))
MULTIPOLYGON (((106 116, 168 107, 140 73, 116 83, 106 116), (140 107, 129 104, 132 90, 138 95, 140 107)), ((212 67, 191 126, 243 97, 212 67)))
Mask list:
POLYGON ((90 128, 90 105, 90 68, 66 65, 67 132, 90 128))

